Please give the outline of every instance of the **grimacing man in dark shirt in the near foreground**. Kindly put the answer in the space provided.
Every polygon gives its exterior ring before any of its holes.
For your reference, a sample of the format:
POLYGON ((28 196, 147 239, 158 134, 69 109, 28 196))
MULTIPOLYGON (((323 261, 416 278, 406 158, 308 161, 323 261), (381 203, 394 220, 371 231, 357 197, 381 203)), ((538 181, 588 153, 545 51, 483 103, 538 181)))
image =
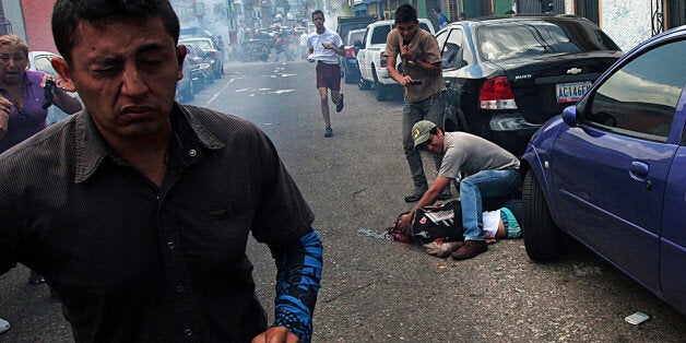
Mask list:
POLYGON ((174 102, 167 0, 58 0, 52 61, 85 109, 0 155, 0 272, 40 272, 76 341, 308 342, 322 245, 253 125, 174 102), (277 267, 255 297, 248 235, 277 267))

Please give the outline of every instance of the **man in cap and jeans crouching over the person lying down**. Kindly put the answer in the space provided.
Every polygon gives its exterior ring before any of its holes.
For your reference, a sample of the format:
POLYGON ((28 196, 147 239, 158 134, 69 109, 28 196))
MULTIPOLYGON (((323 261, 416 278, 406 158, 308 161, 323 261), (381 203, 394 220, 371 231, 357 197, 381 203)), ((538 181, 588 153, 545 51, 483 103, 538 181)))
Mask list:
POLYGON ((441 191, 460 175, 460 202, 464 246, 452 252, 456 260, 471 259, 488 249, 484 233, 482 197, 495 198, 514 193, 521 187, 519 159, 505 149, 481 137, 466 132, 443 132, 434 122, 422 120, 412 128, 412 140, 417 150, 426 149, 442 155, 436 180, 414 205, 400 217, 398 225, 405 228, 414 212, 434 204, 441 191))

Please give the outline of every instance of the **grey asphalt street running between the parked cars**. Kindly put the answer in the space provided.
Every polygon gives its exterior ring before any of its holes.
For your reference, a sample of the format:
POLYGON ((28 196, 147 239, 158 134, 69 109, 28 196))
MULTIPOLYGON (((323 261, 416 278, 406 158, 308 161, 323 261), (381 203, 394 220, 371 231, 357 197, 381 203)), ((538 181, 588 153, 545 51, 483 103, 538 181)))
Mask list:
MULTIPOLYGON (((345 109, 332 106, 334 137, 326 139, 312 64, 233 62, 226 70, 191 104, 264 130, 312 208, 326 249, 315 342, 686 342, 684 316, 573 243, 557 263, 533 263, 520 239, 456 262, 370 235, 410 209, 401 99, 379 103, 343 84, 345 109), (650 320, 627 323, 636 311, 650 320)), ((271 255, 249 247, 273 317, 271 255)), ((73 341, 59 303, 47 286, 28 285, 26 273, 20 267, 0 276, 0 317, 12 324, 0 341, 73 341)))

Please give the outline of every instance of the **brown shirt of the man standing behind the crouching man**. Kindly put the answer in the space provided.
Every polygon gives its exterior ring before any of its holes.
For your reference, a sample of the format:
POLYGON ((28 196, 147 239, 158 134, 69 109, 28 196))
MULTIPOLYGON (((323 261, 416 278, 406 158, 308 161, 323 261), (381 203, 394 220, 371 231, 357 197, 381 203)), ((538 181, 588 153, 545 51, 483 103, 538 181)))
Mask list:
MULTIPOLYGON (((417 27, 417 32, 410 40, 414 47, 414 60, 424 61, 429 64, 439 63, 440 51, 438 49, 438 42, 430 32, 417 27)), ((399 56, 400 47, 403 46, 403 36, 395 28, 391 29, 388 34, 386 43, 387 56, 399 56)), ((415 66, 412 67, 406 60, 403 61, 403 74, 412 76, 413 80, 422 80, 422 84, 413 84, 405 87, 405 96, 411 102, 421 102, 427 99, 429 96, 440 92, 446 87, 442 73, 436 75, 429 74, 424 69, 415 66)))

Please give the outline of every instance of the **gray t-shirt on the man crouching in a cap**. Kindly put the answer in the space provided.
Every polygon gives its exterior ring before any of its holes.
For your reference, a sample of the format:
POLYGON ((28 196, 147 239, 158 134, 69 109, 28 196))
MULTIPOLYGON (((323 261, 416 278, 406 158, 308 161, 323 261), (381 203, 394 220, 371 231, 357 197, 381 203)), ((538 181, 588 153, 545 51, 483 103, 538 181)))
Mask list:
POLYGON ((462 172, 519 169, 519 159, 505 149, 478 135, 446 132, 443 159, 438 176, 457 178, 462 172))

